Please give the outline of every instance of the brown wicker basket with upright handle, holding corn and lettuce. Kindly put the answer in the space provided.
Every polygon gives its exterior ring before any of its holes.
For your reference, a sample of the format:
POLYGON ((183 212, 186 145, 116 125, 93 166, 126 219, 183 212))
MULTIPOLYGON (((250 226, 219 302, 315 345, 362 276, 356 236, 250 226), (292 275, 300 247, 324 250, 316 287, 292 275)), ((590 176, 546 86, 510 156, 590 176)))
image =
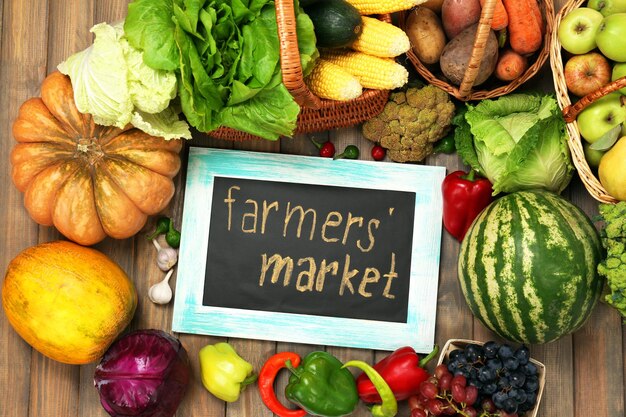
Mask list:
MULTIPOLYGON (((353 126, 382 112, 389 98, 389 91, 387 90, 365 90, 360 97, 354 100, 335 101, 321 99, 307 88, 300 65, 293 1, 275 0, 274 3, 276 5, 283 84, 301 107, 295 133, 320 132, 353 126)), ((391 22, 389 14, 381 15, 379 18, 391 22)), ((261 139, 258 136, 226 127, 216 129, 208 134, 214 138, 234 141, 261 139)))

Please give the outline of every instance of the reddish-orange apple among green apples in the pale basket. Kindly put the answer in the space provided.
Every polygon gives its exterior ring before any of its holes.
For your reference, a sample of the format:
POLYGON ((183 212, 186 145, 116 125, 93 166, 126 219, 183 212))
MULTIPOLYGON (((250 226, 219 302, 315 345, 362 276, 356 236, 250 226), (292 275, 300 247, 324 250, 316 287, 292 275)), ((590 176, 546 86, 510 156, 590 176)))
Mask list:
POLYGON ((611 81, 611 64, 597 52, 574 55, 563 70, 570 93, 582 97, 611 81))

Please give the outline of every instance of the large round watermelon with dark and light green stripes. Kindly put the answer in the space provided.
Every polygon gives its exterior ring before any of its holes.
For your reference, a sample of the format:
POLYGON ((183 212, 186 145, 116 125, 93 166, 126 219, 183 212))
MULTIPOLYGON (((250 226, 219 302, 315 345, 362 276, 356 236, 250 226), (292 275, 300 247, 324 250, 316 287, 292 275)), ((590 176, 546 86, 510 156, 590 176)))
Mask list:
POLYGON ((547 191, 520 191, 485 208, 461 243, 467 304, 501 337, 547 343, 583 325, 604 281, 600 236, 578 207, 547 191))

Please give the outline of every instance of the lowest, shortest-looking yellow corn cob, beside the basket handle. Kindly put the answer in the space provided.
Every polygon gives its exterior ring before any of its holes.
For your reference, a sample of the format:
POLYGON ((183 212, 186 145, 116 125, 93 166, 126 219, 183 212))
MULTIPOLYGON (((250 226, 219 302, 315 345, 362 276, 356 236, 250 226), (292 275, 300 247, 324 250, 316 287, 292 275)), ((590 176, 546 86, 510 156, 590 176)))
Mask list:
POLYGON ((330 100, 352 100, 363 92, 363 87, 355 76, 339 65, 323 59, 317 60, 305 82, 313 94, 330 100))

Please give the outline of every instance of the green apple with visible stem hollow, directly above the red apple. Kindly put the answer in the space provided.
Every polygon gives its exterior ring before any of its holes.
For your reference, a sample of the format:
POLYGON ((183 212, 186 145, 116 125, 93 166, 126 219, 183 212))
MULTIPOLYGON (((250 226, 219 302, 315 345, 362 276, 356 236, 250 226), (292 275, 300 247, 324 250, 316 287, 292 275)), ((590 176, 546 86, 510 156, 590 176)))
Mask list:
POLYGON ((595 49, 596 32, 603 18, 602 13, 589 7, 579 7, 566 14, 557 32, 563 49, 575 55, 595 49))

